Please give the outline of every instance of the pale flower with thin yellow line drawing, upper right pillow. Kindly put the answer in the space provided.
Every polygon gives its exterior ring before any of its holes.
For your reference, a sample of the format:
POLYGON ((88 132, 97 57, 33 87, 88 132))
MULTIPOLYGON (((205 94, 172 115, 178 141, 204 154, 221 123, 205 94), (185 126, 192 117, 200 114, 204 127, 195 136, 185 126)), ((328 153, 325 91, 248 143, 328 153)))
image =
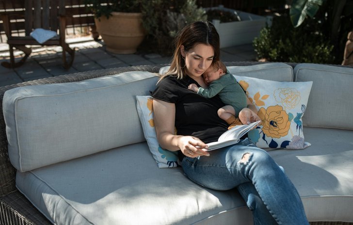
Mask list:
POLYGON ((287 109, 294 109, 301 99, 300 92, 294 88, 278 88, 274 90, 273 96, 278 103, 282 103, 287 109))

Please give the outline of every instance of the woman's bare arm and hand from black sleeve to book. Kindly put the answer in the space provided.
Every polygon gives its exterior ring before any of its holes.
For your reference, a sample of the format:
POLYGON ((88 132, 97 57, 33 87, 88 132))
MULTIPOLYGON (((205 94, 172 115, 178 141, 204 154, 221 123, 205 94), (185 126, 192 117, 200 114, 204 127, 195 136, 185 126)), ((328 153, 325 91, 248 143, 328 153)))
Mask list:
POLYGON ((174 134, 175 112, 174 103, 159 99, 153 100, 154 124, 160 146, 170 151, 180 149, 184 155, 189 157, 209 155, 208 152, 202 150, 203 148, 207 149, 208 145, 200 139, 174 134))

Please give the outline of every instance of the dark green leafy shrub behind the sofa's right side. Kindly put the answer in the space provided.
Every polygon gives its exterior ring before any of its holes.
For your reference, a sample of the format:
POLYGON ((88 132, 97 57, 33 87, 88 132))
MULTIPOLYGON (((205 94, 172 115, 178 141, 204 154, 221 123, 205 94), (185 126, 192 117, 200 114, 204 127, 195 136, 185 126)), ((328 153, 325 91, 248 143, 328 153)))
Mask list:
POLYGON ((288 15, 273 18, 272 27, 265 27, 254 39, 258 59, 272 62, 333 63, 333 45, 321 32, 321 23, 305 20, 297 28, 288 15))

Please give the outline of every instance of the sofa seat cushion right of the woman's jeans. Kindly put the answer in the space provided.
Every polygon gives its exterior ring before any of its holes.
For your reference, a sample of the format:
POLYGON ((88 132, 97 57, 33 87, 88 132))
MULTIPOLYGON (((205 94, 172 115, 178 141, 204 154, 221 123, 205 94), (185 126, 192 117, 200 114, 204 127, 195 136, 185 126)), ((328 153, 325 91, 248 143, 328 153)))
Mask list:
POLYGON ((353 222, 353 131, 305 127, 304 150, 269 151, 302 197, 309 221, 353 222))

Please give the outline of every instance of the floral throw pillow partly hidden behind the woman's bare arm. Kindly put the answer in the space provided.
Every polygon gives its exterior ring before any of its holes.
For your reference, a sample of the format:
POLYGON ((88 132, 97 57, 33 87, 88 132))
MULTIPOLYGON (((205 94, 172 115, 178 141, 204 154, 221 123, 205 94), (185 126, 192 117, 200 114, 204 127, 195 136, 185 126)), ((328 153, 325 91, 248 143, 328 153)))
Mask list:
POLYGON ((157 141, 157 134, 153 121, 153 97, 136 96, 136 109, 140 117, 144 138, 147 141, 149 150, 159 168, 179 167, 177 152, 165 150, 160 147, 157 141))

